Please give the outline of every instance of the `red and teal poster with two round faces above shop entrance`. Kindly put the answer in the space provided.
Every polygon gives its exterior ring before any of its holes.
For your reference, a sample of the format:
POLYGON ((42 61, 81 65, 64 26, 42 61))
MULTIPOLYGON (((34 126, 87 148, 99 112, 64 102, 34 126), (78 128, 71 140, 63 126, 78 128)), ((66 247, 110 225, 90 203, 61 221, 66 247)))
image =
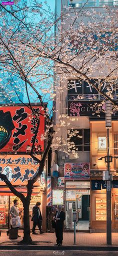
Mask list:
POLYGON ((64 164, 64 178, 65 179, 79 179, 88 180, 89 176, 89 163, 65 163, 64 164))

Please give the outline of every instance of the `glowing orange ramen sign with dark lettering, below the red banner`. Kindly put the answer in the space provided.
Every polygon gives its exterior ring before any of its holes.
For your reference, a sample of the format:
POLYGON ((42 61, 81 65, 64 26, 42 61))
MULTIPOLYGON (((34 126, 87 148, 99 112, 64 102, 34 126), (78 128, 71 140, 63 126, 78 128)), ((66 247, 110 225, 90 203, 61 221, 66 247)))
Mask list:
MULTIPOLYGON (((40 156, 37 156, 40 159, 40 156)), ((0 155, 0 173, 5 174, 12 185, 24 185, 27 181, 32 179, 38 172, 39 164, 29 155, 0 155)), ((44 177, 43 173, 40 179, 35 182, 39 186, 44 177)), ((0 179, 0 185, 5 183, 0 179)))

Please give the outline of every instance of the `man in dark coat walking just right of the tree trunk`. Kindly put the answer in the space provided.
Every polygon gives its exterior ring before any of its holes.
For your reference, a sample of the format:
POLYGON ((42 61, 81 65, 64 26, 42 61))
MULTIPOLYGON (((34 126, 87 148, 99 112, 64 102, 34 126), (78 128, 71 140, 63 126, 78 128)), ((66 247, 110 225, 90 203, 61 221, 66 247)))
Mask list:
POLYGON ((32 227, 32 234, 37 234, 35 232, 35 227, 38 226, 40 234, 42 234, 42 229, 41 229, 41 222, 42 222, 42 215, 40 212, 40 202, 37 202, 36 205, 32 208, 32 218, 31 220, 33 221, 33 227, 32 227))

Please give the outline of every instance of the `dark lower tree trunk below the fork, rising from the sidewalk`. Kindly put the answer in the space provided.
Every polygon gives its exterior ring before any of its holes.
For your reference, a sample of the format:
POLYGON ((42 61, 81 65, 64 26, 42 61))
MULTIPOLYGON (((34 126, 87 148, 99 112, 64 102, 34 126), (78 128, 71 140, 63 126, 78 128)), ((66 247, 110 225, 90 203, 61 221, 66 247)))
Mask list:
POLYGON ((26 244, 34 244, 31 236, 30 236, 30 224, 29 224, 29 201, 26 200, 23 202, 23 220, 24 220, 24 228, 23 228, 23 239, 19 243, 26 244))

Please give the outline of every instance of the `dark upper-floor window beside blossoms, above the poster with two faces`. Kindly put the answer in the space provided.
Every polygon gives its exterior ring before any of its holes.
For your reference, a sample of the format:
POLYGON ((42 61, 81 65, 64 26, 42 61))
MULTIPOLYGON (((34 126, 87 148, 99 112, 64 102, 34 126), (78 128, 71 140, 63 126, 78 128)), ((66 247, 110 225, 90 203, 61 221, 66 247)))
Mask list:
MULTIPOLYGON (((70 137, 70 143, 73 142, 76 151, 90 151, 90 130, 80 129, 80 130, 69 130, 70 133, 78 131, 75 136, 70 137), (80 136, 81 138, 79 138, 80 136)), ((69 137, 69 136, 68 136, 69 137)), ((72 149, 71 149, 72 150, 72 149)))

